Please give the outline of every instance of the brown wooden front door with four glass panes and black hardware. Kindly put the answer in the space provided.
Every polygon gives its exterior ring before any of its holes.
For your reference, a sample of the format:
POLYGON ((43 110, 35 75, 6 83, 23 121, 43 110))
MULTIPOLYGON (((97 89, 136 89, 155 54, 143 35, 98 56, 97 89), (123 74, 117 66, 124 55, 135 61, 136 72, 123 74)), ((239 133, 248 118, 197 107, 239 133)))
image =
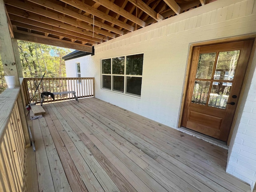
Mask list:
POLYGON ((194 47, 182 126, 227 141, 253 40, 194 47))

